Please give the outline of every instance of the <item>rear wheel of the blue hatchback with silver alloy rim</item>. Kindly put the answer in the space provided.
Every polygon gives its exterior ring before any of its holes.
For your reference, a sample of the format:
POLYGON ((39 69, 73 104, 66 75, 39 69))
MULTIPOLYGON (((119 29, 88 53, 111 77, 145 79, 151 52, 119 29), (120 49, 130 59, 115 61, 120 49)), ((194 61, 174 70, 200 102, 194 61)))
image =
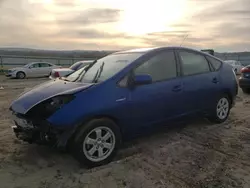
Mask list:
POLYGON ((212 123, 223 123, 227 120, 231 108, 231 102, 227 95, 221 96, 212 110, 208 120, 212 123))

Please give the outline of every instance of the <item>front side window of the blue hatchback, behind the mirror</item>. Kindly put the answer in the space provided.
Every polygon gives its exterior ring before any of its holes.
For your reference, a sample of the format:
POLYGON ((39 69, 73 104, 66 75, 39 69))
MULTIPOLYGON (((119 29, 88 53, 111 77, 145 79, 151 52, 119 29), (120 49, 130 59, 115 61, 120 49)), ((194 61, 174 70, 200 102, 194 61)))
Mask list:
POLYGON ((175 78, 177 76, 177 68, 174 52, 161 52, 150 58, 137 67, 134 74, 149 74, 153 82, 175 78))

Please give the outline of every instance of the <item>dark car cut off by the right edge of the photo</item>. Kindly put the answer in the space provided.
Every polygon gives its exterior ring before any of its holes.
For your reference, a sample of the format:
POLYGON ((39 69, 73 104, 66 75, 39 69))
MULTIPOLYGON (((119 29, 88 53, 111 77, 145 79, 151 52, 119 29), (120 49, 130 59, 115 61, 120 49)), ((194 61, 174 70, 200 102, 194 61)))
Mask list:
POLYGON ((250 65, 241 69, 239 78, 239 87, 244 93, 250 93, 250 65))

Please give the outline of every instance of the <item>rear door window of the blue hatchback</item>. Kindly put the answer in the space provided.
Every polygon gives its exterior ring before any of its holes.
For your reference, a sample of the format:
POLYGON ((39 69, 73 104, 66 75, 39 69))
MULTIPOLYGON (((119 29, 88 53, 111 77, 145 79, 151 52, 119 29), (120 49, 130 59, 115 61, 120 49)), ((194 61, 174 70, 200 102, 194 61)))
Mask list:
POLYGON ((192 52, 179 52, 184 76, 210 72, 209 64, 203 55, 192 52))

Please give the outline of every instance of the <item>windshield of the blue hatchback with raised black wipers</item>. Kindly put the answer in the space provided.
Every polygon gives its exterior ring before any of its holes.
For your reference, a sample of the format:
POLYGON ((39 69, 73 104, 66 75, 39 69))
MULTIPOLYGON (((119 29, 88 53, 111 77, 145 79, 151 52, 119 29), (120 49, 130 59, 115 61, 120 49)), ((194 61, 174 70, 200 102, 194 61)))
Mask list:
POLYGON ((128 66, 134 60, 142 56, 144 53, 117 53, 105 56, 97 60, 94 64, 79 69, 75 73, 69 75, 66 80, 71 82, 81 81, 86 83, 97 83, 105 81, 128 66), (81 72, 81 70, 84 70, 81 72))

